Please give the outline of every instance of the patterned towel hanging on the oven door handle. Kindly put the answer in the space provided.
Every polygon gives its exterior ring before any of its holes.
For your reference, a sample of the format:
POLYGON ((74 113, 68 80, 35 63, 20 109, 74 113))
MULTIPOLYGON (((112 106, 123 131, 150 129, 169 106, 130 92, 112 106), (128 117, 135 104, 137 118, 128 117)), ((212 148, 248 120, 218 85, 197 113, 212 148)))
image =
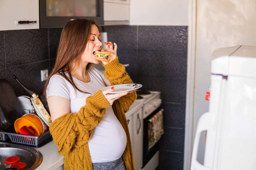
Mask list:
POLYGON ((157 112, 148 121, 148 150, 150 150, 163 134, 163 109, 157 112))

